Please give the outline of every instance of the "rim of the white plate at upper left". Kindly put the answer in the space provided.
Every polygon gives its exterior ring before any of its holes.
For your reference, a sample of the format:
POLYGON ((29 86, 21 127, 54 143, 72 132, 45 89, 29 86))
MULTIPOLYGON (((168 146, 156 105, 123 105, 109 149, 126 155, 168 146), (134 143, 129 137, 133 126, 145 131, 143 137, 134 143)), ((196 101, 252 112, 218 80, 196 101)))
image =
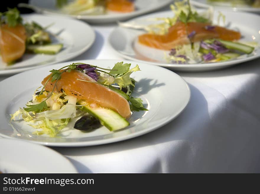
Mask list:
MULTIPOLYGON (((50 19, 51 16, 47 16, 47 15, 42 15, 42 14, 38 14, 38 13, 33 13, 33 14, 22 14, 22 16, 26 16, 26 17, 43 17, 43 18, 46 18, 46 19, 50 19)), ((64 61, 68 61, 72 58, 75 58, 79 55, 81 55, 82 53, 84 53, 85 51, 87 51, 89 48, 91 48, 91 46, 93 45, 93 43, 95 42, 96 40, 96 33, 95 33, 95 30, 87 23, 83 22, 83 21, 79 21, 79 20, 75 20, 75 19, 72 19, 72 18, 66 18, 66 17, 61 17, 61 16, 56 16, 58 17, 59 19, 63 19, 63 20, 70 20, 70 21, 73 21, 73 22, 79 22, 80 24, 82 25, 86 25, 86 27, 89 29, 89 33, 91 34, 90 36, 92 36, 93 38, 90 40, 90 43, 85 45, 82 49, 80 50, 77 50, 77 52, 75 52, 75 54, 73 56, 70 56, 70 57, 66 57, 66 55, 61 58, 60 60, 58 61, 54 61, 54 62, 51 62, 51 63, 47 63, 47 64, 43 64, 43 65, 39 65, 39 66, 34 66, 34 65, 31 65, 31 66, 25 66, 25 67, 18 67, 18 68, 15 68, 15 69, 3 69, 1 70, 0 69, 0 76, 2 75, 12 75, 12 74, 17 74, 19 72, 22 72, 22 71, 26 71, 26 70, 30 70, 30 69, 35 69, 35 68, 39 68, 39 67, 43 67, 43 66, 48 66, 48 65, 53 65, 53 64, 56 64, 56 63, 61 63, 61 62, 64 62, 64 61)), ((66 22, 64 22, 64 24, 66 24, 66 22)), ((0 59, 1 60, 1 59, 0 59)))

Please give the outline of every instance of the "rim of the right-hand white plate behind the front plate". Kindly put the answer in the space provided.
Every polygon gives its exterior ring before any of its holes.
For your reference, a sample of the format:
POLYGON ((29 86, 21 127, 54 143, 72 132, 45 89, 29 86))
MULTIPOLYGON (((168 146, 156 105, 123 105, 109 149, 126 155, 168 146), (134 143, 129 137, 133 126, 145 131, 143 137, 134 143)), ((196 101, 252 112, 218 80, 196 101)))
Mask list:
MULTIPOLYGON (((216 11, 218 9, 215 9, 216 11)), ((228 10, 225 10, 224 12, 229 12, 229 13, 235 13, 235 12, 232 12, 232 11, 228 11, 228 10)), ((172 13, 171 11, 163 11, 163 12, 156 12, 156 13, 152 13, 152 14, 167 14, 167 13, 172 13)), ((133 19, 130 19, 126 22, 131 22, 131 21, 134 21, 136 19, 141 19, 142 17, 149 17, 150 15, 152 14, 149 14, 149 15, 145 15, 145 16, 140 16, 140 17, 136 17, 136 18, 133 18, 133 19)), ((225 13, 224 13, 225 14, 225 13)), ((238 14, 238 13, 237 13, 238 14)), ((239 13, 241 14, 241 13, 239 13)), ((246 12, 243 12, 242 14, 249 14, 249 15, 254 15, 256 17, 259 17, 260 19, 260 16, 257 15, 257 14, 253 14, 253 13, 246 13, 246 12)), ((176 70, 176 71, 214 71, 216 69, 223 69, 223 68, 227 68, 227 67, 230 67, 230 66, 234 66, 234 65, 237 65, 239 63, 244 63, 244 62, 247 62, 247 61, 252 61, 256 58, 259 58, 260 57, 260 53, 259 54, 256 54, 256 55, 253 55, 253 56, 249 56, 249 57, 246 57, 246 58, 241 58, 241 59, 236 59, 236 60, 230 60, 230 61, 224 61, 224 62, 215 62, 215 63, 196 63, 196 64, 170 64, 170 63, 160 63, 160 62, 151 62, 151 61, 143 61, 143 60, 140 60, 140 59, 137 59, 137 58, 133 58, 131 56, 128 56, 128 55, 125 55, 121 52, 118 52, 118 50, 116 50, 112 43, 111 43, 111 37, 113 36, 113 33, 118 30, 118 29, 124 29, 123 27, 120 27, 120 26, 117 26, 115 27, 109 34, 108 36, 108 45, 109 47, 115 52, 117 53, 119 56, 123 57, 123 58, 126 58, 128 60, 133 60, 133 61, 138 61, 138 62, 145 62, 145 63, 149 63, 151 65, 155 65, 155 66, 161 66, 161 67, 165 67, 165 68, 169 68, 169 69, 173 69, 173 70, 176 70)), ((260 48, 259 48, 260 49, 260 48)))

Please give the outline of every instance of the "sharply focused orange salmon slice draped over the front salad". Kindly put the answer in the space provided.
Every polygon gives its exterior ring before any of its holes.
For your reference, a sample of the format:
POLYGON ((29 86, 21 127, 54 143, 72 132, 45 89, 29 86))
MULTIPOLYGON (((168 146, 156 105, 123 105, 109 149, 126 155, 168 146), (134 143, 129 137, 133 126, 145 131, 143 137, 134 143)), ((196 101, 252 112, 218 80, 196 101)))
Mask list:
MULTIPOLYGON (((43 85, 45 85, 50 76, 51 74, 43 79, 43 85)), ((114 110, 124 118, 129 118, 131 116, 129 103, 120 94, 97 82, 90 83, 77 79, 96 82, 85 73, 82 73, 79 70, 72 70, 71 72, 64 72, 61 74, 61 79, 57 81, 54 92, 61 92, 63 90, 67 95, 72 95, 80 100, 85 100, 89 104, 96 104, 100 107, 114 110)), ((55 81, 48 81, 45 90, 52 91, 54 83, 55 81)))

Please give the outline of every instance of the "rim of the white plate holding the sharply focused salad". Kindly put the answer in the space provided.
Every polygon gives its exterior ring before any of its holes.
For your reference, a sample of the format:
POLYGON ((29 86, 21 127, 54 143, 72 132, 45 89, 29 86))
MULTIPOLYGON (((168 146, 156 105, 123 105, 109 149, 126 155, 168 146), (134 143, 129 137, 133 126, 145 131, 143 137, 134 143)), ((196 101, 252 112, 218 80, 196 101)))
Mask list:
MULTIPOLYGON (((118 60, 117 59, 88 59, 88 60, 80 60, 80 62, 89 63, 87 61, 110 61, 111 63, 112 62, 115 63, 118 60)), ((68 61, 66 63, 72 63, 72 62, 75 62, 75 61, 68 61)), ((76 62, 79 62, 79 61, 77 60, 76 62)), ((136 61, 127 61, 127 62, 135 63, 136 61)), ((142 63, 144 63, 144 62, 142 62, 142 63)), ((58 65, 58 64, 60 64, 60 63, 57 63, 56 65, 58 65)), ((145 65, 149 66, 149 64, 145 64, 145 65)), ((131 134, 128 134, 126 136, 120 136, 120 137, 116 137, 116 138, 108 138, 108 139, 103 139, 103 140, 82 141, 82 142, 68 142, 68 143, 66 143, 66 142, 58 142, 58 143, 57 142, 39 142, 39 141, 31 141, 31 140, 25 140, 25 139, 23 139, 23 140, 24 141, 30 141, 30 142, 33 142, 33 143, 36 143, 36 144, 45 145, 45 146, 59 146, 59 147, 95 146, 95 145, 103 145, 103 144, 115 143, 115 142, 118 142, 118 141, 124 141, 124 140, 131 139, 131 138, 134 138, 134 137, 142 136, 142 135, 144 135, 146 133, 150 133, 151 131, 154 131, 154 130, 162 127, 163 125, 166 125, 167 123, 169 123, 170 121, 172 121, 173 119, 178 117, 183 112, 183 110, 185 110, 185 108, 187 107, 187 105, 189 104, 189 102, 191 100, 191 90, 190 90, 190 87, 189 87, 188 83, 181 76, 176 74, 175 72, 170 71, 169 69, 166 69, 166 68, 163 68, 163 67, 160 67, 160 66, 154 66, 154 67, 159 68, 159 69, 161 69, 163 71, 171 72, 174 76, 178 77, 183 82, 183 84, 185 85, 185 87, 187 89, 187 94, 188 94, 187 97, 189 99, 185 103, 183 103, 182 107, 180 108, 180 110, 178 110, 178 112, 176 112, 174 115, 171 115, 167 120, 165 120, 163 122, 160 122, 160 123, 157 123, 157 125, 154 125, 154 126, 151 126, 149 128, 146 128, 145 130, 141 130, 141 131, 138 131, 138 132, 135 132, 135 133, 131 133, 131 134), (100 143, 100 141, 102 141, 102 142, 100 143)), ((42 68, 45 68, 45 67, 42 67, 42 68)), ((32 69, 30 71, 34 71, 34 70, 35 69, 32 69)), ((13 77, 15 77, 15 76, 19 76, 19 74, 11 76, 11 77, 9 77, 9 78, 7 78, 5 80, 9 81, 9 80, 13 79, 13 77)), ((4 135, 2 133, 0 133, 0 137, 17 139, 15 137, 7 136, 7 135, 4 135)))

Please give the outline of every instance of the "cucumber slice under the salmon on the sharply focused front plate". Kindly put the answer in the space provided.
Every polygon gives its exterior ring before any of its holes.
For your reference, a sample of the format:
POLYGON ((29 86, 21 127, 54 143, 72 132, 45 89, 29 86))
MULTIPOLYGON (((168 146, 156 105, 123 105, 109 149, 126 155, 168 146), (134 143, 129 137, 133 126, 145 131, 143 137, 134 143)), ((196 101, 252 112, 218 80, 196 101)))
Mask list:
POLYGON ((90 106, 80 107, 80 110, 85 111, 96 117, 102 125, 110 131, 116 131, 127 127, 130 123, 115 111, 107 108, 91 108, 90 106))

